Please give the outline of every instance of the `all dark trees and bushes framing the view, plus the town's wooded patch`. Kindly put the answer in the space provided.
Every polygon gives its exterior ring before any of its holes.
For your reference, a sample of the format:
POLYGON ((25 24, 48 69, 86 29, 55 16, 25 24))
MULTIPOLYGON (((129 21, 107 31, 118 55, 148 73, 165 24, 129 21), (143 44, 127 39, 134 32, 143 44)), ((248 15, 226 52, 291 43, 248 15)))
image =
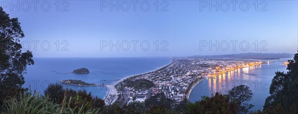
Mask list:
MULTIPOLYGON (((248 104, 253 94, 245 85, 235 86, 227 95, 216 93, 195 103, 186 99, 176 103, 159 93, 145 103, 123 107, 105 105, 104 100, 86 90, 64 89, 57 83, 50 84, 42 96, 22 88, 26 67, 34 64, 32 53, 21 50, 19 39, 23 37, 18 19, 10 18, 0 7, 0 114, 246 114, 253 107, 248 104)), ((289 60, 287 70, 276 72, 264 110, 251 114, 298 114, 298 53, 289 60)), ((127 84, 140 89, 154 85, 148 80, 127 84)))

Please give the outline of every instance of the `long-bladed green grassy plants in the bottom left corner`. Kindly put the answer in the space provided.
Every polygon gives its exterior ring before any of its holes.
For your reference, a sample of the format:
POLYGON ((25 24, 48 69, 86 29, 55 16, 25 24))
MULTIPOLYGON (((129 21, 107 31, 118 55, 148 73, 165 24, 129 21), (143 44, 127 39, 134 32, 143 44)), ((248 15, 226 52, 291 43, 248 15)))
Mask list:
MULTIPOLYGON (((63 103, 64 104, 64 103, 63 103)), ((55 104, 48 96, 42 97, 38 93, 28 93, 17 97, 10 97, 5 101, 2 114, 97 114, 99 109, 84 111, 85 105, 77 111, 67 105, 55 104)))

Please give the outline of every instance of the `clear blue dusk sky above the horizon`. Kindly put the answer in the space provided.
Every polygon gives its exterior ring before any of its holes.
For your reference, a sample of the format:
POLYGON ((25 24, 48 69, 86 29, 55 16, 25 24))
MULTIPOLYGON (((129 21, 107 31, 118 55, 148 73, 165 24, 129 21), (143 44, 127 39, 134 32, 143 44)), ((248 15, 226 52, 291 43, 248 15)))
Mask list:
POLYGON ((34 57, 296 53, 297 0, 0 0, 34 57))

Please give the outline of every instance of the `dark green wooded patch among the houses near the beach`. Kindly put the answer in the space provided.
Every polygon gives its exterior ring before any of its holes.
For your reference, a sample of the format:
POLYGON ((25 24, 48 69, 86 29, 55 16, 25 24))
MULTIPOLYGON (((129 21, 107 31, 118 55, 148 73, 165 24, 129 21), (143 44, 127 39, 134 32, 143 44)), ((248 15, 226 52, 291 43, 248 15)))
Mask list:
POLYGON ((149 89, 154 86, 154 83, 148 79, 125 80, 123 86, 134 87, 135 89, 149 89))

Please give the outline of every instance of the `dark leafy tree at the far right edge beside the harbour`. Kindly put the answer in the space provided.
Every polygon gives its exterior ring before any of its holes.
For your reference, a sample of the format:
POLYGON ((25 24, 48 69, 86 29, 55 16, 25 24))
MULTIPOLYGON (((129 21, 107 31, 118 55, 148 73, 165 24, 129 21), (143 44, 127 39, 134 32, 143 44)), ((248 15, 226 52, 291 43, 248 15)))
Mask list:
POLYGON ((270 85, 270 96, 263 106, 266 112, 282 108, 286 113, 298 114, 298 53, 293 60, 288 60, 287 73, 276 72, 270 85), (280 104, 280 105, 279 105, 280 104))

